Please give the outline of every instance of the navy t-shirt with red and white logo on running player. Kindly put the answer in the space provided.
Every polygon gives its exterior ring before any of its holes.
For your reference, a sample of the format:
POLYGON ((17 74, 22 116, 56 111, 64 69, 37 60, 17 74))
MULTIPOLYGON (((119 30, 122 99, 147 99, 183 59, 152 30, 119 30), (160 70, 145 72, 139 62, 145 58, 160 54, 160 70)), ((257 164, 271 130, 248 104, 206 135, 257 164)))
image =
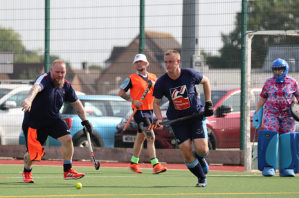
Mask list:
POLYGON ((170 101, 166 114, 168 120, 203 111, 195 88, 195 84, 199 84, 202 79, 203 75, 191 68, 181 68, 181 75, 176 80, 172 80, 167 73, 158 78, 153 96, 157 99, 165 96, 170 101))

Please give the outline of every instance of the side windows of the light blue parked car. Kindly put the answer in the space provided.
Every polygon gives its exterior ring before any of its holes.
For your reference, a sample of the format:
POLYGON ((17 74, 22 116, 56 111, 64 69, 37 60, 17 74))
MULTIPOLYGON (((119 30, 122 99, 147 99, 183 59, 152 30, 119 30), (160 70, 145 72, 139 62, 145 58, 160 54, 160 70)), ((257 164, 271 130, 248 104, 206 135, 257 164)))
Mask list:
MULTIPOLYGON (((131 102, 109 100, 80 100, 87 116, 125 117, 132 114, 131 102)), ((61 114, 77 114, 69 102, 64 102, 61 114)))

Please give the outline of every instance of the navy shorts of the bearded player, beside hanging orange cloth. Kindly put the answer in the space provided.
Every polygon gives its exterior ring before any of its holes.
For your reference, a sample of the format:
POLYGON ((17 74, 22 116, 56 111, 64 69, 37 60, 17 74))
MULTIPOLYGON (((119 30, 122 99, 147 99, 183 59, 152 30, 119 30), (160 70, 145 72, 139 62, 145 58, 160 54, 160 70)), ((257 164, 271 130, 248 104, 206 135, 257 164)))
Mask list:
MULTIPOLYGON (((28 124, 23 123, 22 127, 25 136, 26 147, 28 150, 27 134, 28 134, 29 126, 28 124)), ((37 129, 37 141, 39 141, 41 145, 44 145, 48 136, 57 139, 62 136, 70 135, 70 134, 71 133, 69 132, 69 127, 66 125, 66 122, 64 121, 64 119, 60 118, 57 119, 57 121, 49 127, 45 127, 43 129, 37 129)))

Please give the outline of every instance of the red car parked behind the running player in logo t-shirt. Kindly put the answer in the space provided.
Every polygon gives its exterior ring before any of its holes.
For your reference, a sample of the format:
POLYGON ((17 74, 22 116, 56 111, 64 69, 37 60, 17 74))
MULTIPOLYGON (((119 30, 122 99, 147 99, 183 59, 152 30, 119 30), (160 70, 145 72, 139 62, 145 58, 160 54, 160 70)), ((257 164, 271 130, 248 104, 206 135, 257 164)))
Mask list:
MULTIPOLYGON (((252 125, 253 112, 257 107, 257 102, 260 99, 262 88, 251 88, 251 141, 255 133, 255 128, 252 125)), ((240 103, 241 89, 236 87, 212 87, 212 103, 214 115, 207 118, 206 125, 208 129, 208 146, 210 150, 224 148, 239 148, 240 146, 240 103)), ((201 103, 205 103, 204 94, 200 94, 201 103)), ((163 120, 167 120, 165 110, 168 104, 161 106, 163 120)), ((123 118, 122 122, 116 127, 118 132, 115 135, 115 147, 133 147, 136 139, 137 124, 134 118, 129 123, 124 134, 121 134, 129 117, 123 118)), ((156 117, 154 118, 154 123, 156 117)), ((263 125, 262 125, 263 128, 263 125)), ((261 129, 262 129, 261 128, 261 129)), ((163 131, 154 130, 156 134, 156 148, 176 148, 174 136, 169 127, 163 127, 163 131)), ((257 136, 255 137, 257 141, 257 136)), ((146 147, 146 141, 145 145, 146 147)))

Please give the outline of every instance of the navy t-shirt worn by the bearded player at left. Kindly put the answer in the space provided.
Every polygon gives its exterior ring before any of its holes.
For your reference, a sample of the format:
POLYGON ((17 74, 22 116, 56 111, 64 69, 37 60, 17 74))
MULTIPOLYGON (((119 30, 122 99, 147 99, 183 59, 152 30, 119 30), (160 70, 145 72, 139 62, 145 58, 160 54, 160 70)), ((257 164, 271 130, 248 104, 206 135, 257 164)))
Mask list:
POLYGON ((53 125, 60 119, 60 109, 64 102, 75 102, 78 96, 71 83, 64 80, 62 88, 56 88, 51 80, 51 73, 40 75, 35 84, 42 87, 42 91, 35 96, 30 112, 26 111, 23 123, 33 129, 42 129, 53 125))

